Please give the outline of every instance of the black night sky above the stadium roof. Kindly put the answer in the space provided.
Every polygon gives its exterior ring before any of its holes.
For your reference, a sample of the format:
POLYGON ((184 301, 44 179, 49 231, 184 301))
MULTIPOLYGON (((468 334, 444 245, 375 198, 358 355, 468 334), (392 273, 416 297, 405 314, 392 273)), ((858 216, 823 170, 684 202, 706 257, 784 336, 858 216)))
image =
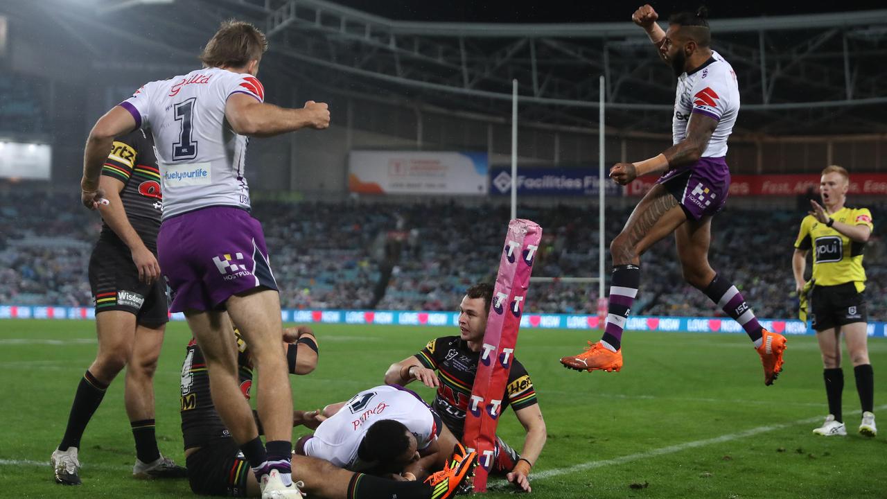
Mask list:
MULTIPOLYGON (((640 6, 633 2, 541 2, 500 0, 334 0, 360 11, 393 20, 460 21, 460 22, 610 22, 631 20, 640 6)), ((797 2, 753 1, 735 2, 663 2, 652 4, 660 18, 673 12, 695 11, 705 4, 710 19, 790 15, 797 13, 865 11, 885 8, 882 1, 859 2, 797 2)))

